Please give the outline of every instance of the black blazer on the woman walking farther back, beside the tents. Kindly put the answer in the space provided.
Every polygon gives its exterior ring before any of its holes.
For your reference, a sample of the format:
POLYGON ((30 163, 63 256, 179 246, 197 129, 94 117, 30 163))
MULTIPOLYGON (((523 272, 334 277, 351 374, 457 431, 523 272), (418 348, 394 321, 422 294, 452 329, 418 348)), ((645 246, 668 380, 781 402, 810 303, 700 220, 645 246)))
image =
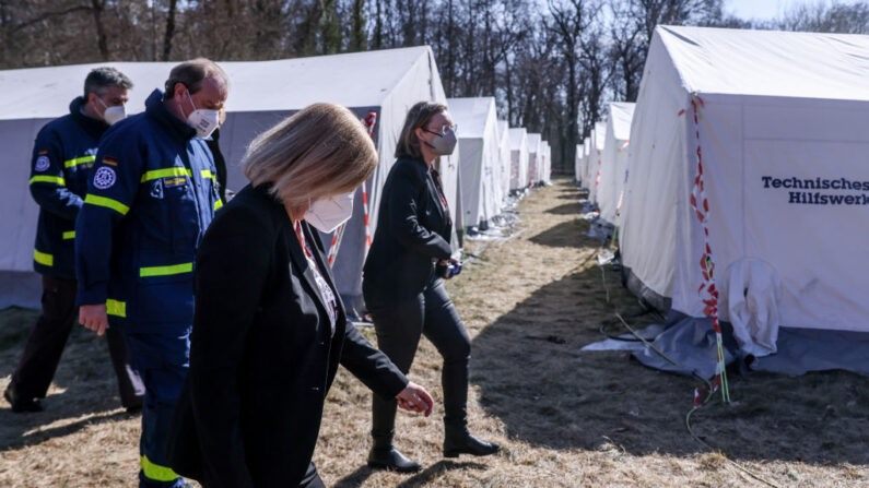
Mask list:
POLYGON ((453 224, 422 159, 400 158, 384 183, 377 229, 365 261, 362 291, 376 309, 418 295, 434 263, 453 253, 453 224))

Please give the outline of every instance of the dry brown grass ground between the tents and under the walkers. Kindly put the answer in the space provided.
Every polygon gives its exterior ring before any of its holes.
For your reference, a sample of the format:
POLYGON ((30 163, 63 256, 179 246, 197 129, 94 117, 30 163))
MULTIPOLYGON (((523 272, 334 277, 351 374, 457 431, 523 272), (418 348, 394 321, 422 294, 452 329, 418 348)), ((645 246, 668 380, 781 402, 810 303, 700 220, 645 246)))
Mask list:
MULTIPOLYGON (((365 467, 369 393, 341 370, 329 393, 315 462, 336 487, 782 487, 869 486, 867 379, 845 372, 731 377, 735 404, 697 412, 684 427, 694 383, 653 371, 624 353, 579 353, 600 340, 613 309, 639 311, 609 272, 587 261, 576 190, 533 191, 520 237, 485 247, 448 284, 473 342, 471 429, 504 445, 484 459, 441 456, 439 406, 428 419, 400 414, 397 444, 422 462, 416 475, 365 467), (561 337, 564 344, 550 342, 561 337)), ((472 246, 479 251, 480 246, 472 246)), ((471 249, 474 250, 474 249, 471 249)), ((0 386, 9 381, 32 312, 0 320, 0 386)), ((647 319, 646 319, 647 321, 647 319)), ((637 321, 642 325, 643 320, 637 321)), ((0 408, 0 486, 134 486, 139 418, 118 408, 104 342, 79 328, 45 405, 0 408)), ((616 329, 613 325, 613 329, 616 329)), ((373 338, 372 331, 365 331, 373 338)), ((423 341, 411 378, 441 398, 439 356, 423 341)), ((1 402, 1 401, 0 401, 1 402)), ((5 405, 0 403, 0 405, 5 405)))

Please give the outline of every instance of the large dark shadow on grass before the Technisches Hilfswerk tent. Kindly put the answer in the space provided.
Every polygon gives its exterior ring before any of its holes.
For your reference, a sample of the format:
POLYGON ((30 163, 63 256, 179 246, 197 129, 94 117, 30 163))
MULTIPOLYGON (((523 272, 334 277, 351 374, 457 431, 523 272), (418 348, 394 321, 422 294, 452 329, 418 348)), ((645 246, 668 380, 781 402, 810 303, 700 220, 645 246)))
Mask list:
MULTIPOLYGON (((606 283, 620 312, 637 312, 614 273, 606 283)), ((471 366, 483 408, 510 438, 550 449, 706 452, 685 429, 692 379, 647 369, 626 353, 579 353, 613 317, 604 296, 590 267, 543 286, 483 330, 471 366)), ((866 381, 841 371, 731 377, 736 402, 696 412, 692 428, 737 460, 869 464, 866 381)))

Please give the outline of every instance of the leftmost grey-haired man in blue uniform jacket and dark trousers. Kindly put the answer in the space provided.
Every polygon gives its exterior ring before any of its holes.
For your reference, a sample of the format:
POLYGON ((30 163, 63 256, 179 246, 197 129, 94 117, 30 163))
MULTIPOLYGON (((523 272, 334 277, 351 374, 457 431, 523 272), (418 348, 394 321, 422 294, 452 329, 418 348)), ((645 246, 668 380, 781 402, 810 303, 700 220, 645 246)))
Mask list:
MULTIPOLYGON (((84 80, 84 96, 70 112, 48 122, 36 136, 31 162, 31 194, 39 205, 33 267, 43 275, 43 313, 31 330, 24 354, 4 392, 12 412, 39 412, 77 318, 75 217, 87 190, 99 138, 125 117, 132 83, 114 68, 96 68, 84 80)), ((128 410, 142 406, 144 386, 129 365, 124 337, 106 334, 118 376, 120 401, 128 410)))

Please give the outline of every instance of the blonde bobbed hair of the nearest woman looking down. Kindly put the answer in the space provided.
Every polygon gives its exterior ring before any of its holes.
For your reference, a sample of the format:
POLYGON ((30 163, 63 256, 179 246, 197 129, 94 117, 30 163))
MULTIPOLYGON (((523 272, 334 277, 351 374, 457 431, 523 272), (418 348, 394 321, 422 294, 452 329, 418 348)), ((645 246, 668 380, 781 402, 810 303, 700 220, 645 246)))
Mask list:
POLYGON ((365 181, 377 166, 377 150, 353 112, 314 104, 257 136, 242 165, 254 186, 272 183, 272 194, 301 214, 309 202, 365 181))

